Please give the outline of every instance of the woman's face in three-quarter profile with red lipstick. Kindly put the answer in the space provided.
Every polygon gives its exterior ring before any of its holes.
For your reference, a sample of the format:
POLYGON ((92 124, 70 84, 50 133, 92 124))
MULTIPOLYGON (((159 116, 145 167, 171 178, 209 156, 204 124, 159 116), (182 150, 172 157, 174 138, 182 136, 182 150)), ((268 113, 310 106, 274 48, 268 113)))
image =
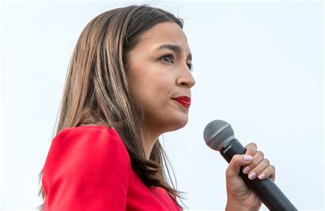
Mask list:
POLYGON ((145 129, 165 133, 185 126, 189 104, 173 99, 191 98, 195 80, 190 65, 191 51, 186 36, 173 22, 157 23, 149 28, 128 52, 129 87, 145 111, 145 129))

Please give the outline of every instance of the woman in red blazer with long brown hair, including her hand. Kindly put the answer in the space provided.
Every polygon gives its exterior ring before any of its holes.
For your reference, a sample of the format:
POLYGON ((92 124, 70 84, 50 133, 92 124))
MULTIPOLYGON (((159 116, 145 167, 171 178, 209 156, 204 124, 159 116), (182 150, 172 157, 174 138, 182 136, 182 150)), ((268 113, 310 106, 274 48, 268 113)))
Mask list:
MULTIPOLYGON (((86 25, 41 171, 40 210, 182 209, 158 141, 188 121, 195 80, 182 26, 147 5, 110 10, 86 25)), ((275 177, 256 144, 246 148, 226 170, 226 210, 261 207, 239 177, 241 166, 250 179, 275 177)))

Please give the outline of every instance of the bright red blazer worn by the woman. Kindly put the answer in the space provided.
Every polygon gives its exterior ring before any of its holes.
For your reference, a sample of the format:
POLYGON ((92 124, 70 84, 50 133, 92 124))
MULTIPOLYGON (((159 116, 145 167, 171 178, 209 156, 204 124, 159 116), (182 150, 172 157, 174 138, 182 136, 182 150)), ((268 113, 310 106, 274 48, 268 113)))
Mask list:
POLYGON ((121 137, 106 126, 63 129, 43 168, 44 210, 180 210, 163 188, 132 170, 121 137))

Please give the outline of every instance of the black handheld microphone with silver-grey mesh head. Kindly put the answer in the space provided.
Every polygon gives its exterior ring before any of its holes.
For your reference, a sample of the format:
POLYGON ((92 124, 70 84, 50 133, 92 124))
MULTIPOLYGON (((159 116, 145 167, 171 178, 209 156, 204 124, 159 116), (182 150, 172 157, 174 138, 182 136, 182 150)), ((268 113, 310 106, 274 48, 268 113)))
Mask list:
MULTIPOLYGON (((213 120, 207 124, 203 136, 206 145, 219 151, 228 163, 232 156, 243 155, 246 152, 243 145, 234 138, 234 131, 230 124, 224 120, 213 120)), ((271 178, 250 180, 248 175, 243 173, 243 166, 241 166, 239 175, 245 181, 246 186, 256 193, 269 210, 297 210, 271 178)))

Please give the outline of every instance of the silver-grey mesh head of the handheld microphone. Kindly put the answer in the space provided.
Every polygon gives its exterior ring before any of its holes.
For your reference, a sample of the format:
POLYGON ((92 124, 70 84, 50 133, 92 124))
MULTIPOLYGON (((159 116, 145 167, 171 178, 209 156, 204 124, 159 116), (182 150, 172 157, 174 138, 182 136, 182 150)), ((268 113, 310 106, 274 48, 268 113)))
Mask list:
POLYGON ((234 131, 224 120, 213 120, 206 125, 203 137, 206 145, 215 151, 220 151, 226 142, 234 138, 234 131))

